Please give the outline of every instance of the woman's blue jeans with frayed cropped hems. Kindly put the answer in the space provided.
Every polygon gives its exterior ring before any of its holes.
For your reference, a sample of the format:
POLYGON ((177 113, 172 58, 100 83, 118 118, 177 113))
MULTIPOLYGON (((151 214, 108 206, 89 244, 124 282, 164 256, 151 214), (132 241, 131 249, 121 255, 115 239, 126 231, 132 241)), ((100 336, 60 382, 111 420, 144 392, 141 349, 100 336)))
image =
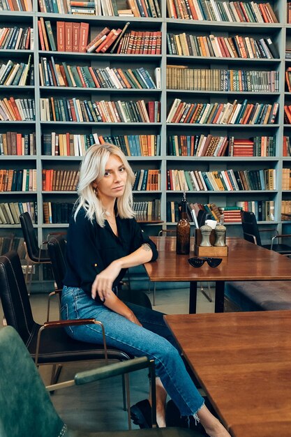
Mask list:
MULTIPOLYGON (((124 350, 135 357, 147 356, 156 363, 156 375, 180 410, 181 415, 195 415, 204 405, 179 355, 170 329, 163 320, 163 313, 143 306, 126 305, 135 313, 142 327, 98 304, 82 288, 64 286, 61 295, 61 318, 95 318, 103 323, 107 346, 124 350)), ((102 344, 99 325, 68 327, 73 339, 102 344)))

